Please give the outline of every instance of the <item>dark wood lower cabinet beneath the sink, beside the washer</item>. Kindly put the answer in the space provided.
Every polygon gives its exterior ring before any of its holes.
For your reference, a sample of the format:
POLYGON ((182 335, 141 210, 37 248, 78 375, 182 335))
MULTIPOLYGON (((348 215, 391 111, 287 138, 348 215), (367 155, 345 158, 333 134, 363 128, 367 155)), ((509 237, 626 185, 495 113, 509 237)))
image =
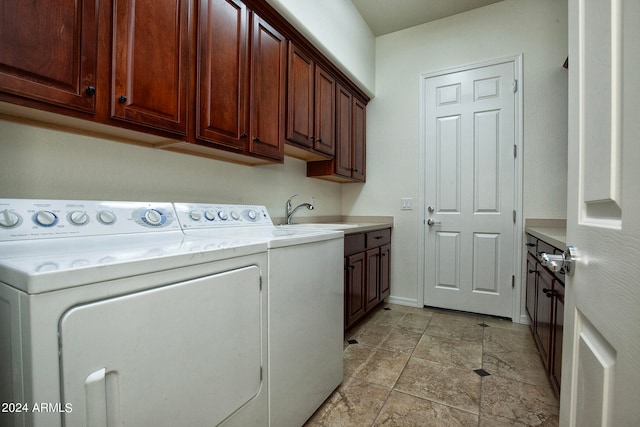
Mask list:
POLYGON ((345 330, 390 293, 391 229, 349 234, 345 246, 345 330))

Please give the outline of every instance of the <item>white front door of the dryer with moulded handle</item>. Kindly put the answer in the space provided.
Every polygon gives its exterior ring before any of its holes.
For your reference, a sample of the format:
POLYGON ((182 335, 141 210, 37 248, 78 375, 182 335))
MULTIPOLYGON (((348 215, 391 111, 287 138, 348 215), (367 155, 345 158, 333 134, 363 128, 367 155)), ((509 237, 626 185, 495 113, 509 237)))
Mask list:
POLYGON ((250 266, 70 309, 60 321, 65 425, 213 426, 266 399, 262 304, 250 266))

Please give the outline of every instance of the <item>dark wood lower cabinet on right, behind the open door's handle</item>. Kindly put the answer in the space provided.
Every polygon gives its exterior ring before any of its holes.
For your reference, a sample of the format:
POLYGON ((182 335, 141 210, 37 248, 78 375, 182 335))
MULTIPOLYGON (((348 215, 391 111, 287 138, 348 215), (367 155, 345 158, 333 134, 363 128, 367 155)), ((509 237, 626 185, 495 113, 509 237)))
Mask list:
POLYGON ((539 252, 560 251, 527 235, 527 282, 525 307, 531 332, 540 351, 554 391, 560 395, 562 373, 562 335, 564 319, 564 280, 538 261, 539 252))

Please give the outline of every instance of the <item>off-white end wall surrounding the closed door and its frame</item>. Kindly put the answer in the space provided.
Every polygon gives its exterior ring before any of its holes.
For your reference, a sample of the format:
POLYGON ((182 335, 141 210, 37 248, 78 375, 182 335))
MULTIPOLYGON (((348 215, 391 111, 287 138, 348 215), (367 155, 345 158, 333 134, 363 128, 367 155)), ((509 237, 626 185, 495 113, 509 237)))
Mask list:
POLYGON ((523 54, 523 218, 566 215, 566 0, 505 0, 376 39, 376 97, 367 107, 367 183, 342 189, 344 214, 393 215, 391 294, 417 302, 419 76, 523 54))

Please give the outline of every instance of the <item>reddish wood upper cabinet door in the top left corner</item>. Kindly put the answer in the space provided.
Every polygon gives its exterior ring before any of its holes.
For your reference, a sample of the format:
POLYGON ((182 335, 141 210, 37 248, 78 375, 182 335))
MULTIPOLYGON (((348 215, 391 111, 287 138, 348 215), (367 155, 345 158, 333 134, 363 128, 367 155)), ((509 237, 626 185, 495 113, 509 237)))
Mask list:
POLYGON ((0 91, 93 113, 97 4, 2 2, 0 91))

